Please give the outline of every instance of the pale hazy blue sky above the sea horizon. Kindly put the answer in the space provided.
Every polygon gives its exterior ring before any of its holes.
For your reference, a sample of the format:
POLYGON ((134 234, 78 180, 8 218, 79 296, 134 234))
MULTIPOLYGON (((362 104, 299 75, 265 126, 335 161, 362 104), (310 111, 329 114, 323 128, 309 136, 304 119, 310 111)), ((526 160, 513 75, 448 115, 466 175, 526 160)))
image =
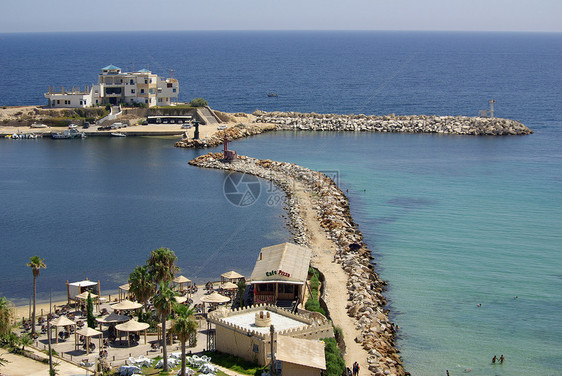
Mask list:
POLYGON ((0 33, 162 30, 562 32, 562 0, 2 0, 0 33))

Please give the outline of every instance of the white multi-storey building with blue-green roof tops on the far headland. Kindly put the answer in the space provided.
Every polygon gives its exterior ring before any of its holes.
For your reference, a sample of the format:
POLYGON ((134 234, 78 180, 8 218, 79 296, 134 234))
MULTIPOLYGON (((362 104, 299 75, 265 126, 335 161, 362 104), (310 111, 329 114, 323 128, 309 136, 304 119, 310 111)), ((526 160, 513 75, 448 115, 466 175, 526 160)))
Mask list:
POLYGON ((102 68, 98 83, 84 90, 72 88, 45 93, 49 107, 90 107, 103 104, 144 103, 148 107, 171 106, 177 102, 179 83, 162 78, 148 69, 122 72, 115 65, 102 68))

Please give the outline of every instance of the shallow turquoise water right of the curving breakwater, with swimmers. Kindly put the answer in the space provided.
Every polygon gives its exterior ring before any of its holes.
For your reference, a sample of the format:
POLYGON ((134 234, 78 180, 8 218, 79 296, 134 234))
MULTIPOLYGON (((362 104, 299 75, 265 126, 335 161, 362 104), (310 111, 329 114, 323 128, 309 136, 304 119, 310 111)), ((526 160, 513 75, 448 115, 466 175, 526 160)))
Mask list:
POLYGON ((553 137, 285 133, 233 147, 338 172, 390 283, 413 375, 558 375, 562 144, 553 137), (492 366, 494 354, 507 361, 492 366))

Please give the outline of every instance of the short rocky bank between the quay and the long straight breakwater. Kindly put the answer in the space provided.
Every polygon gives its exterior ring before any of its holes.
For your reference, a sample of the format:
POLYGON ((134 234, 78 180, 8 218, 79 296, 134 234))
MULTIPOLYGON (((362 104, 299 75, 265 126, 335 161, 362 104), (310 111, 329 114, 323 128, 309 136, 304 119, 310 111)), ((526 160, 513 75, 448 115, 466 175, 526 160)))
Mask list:
POLYGON ((237 124, 225 130, 219 130, 211 136, 201 139, 184 137, 181 141, 176 142, 175 146, 178 148, 212 148, 222 144, 225 136, 229 141, 232 141, 239 138, 255 136, 263 132, 274 131, 276 129, 275 125, 271 124, 237 124))

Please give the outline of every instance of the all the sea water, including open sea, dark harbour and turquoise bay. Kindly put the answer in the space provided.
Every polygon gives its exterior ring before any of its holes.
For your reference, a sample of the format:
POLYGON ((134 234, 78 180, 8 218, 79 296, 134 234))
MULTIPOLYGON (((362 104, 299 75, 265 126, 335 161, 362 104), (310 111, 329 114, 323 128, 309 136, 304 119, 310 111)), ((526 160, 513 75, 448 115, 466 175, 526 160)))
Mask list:
MULTIPOLYGON (((241 154, 330 173, 373 251, 412 375, 562 375, 562 34, 153 32, 0 34, 0 105, 45 103, 47 86, 148 67, 180 100, 218 110, 498 117, 529 136, 264 134, 241 154), (267 97, 275 92, 277 98, 267 97), (504 364, 492 365, 503 354, 504 364)), ((198 282, 249 274, 291 238, 278 192, 251 206, 207 151, 166 138, 0 140, 0 294, 40 296, 88 277, 112 290, 166 246, 198 282)))

